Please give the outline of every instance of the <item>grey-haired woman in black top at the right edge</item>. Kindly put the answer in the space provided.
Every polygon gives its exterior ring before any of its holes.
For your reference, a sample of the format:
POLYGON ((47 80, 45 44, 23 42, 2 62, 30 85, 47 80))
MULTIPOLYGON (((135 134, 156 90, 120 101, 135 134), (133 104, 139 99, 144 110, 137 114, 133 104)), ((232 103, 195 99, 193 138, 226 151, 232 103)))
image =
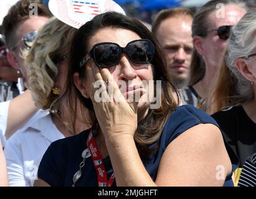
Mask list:
POLYGON ((209 98, 213 114, 228 144, 239 156, 239 169, 256 152, 256 9, 249 10, 231 29, 227 52, 209 98), (217 113, 216 113, 217 112, 217 113))

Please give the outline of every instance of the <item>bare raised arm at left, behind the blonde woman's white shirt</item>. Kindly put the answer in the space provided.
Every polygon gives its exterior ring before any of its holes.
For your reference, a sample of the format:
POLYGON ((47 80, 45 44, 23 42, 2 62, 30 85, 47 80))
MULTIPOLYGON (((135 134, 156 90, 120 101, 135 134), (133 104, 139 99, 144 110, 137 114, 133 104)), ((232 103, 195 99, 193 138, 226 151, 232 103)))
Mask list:
POLYGON ((12 99, 8 109, 6 139, 21 129, 37 110, 29 90, 12 99))

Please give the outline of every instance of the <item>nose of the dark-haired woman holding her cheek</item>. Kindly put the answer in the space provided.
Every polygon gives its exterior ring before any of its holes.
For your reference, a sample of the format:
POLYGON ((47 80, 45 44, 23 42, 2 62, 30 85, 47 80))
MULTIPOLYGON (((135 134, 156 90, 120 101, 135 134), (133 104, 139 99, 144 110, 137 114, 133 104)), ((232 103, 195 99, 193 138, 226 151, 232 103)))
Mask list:
POLYGON ((133 80, 137 77, 136 70, 133 68, 130 59, 127 55, 122 55, 120 58, 120 75, 119 80, 133 80))

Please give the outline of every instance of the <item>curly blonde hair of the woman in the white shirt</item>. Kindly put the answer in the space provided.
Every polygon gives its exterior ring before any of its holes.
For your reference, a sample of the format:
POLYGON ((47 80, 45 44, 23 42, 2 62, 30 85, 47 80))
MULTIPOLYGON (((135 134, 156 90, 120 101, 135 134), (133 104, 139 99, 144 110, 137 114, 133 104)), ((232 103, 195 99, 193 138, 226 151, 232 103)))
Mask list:
POLYGON ((55 77, 59 72, 55 63, 63 55, 69 55, 75 30, 52 17, 37 33, 31 49, 23 52, 28 68, 28 87, 38 108, 49 109, 54 103, 54 110, 59 111, 56 103, 58 96, 52 93, 55 77))

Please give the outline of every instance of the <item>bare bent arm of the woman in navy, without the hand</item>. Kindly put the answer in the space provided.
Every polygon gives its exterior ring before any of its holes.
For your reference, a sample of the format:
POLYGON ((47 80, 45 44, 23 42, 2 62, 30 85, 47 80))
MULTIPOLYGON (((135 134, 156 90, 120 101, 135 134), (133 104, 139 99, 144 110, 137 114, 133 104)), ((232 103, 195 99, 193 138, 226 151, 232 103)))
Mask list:
POLYGON ((199 124, 174 139, 164 151, 155 182, 132 136, 116 136, 106 144, 118 186, 222 186, 232 170, 220 130, 213 124, 199 124))

